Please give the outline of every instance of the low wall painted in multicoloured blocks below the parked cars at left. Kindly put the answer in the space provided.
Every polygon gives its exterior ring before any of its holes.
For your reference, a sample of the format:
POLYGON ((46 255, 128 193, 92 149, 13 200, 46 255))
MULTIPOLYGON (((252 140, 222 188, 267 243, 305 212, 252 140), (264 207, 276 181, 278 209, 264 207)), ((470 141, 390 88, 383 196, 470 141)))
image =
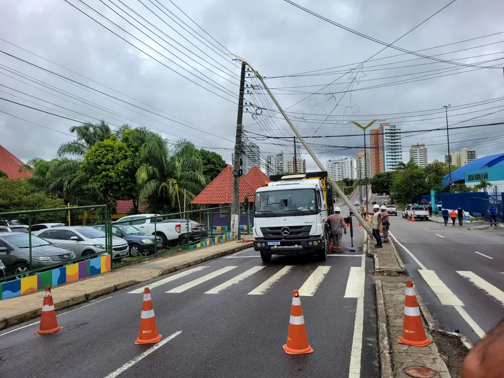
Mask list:
POLYGON ((43 271, 36 275, 7 281, 0 284, 0 299, 24 296, 34 291, 80 280, 90 276, 110 271, 110 255, 98 256, 91 260, 63 266, 53 270, 43 271))

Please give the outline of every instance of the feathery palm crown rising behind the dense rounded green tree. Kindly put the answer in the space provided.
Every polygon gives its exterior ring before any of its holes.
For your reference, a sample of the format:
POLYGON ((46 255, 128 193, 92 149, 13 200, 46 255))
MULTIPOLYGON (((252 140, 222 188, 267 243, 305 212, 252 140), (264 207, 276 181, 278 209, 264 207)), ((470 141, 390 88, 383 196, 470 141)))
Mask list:
POLYGON ((123 124, 117 130, 112 131, 105 121, 100 123, 82 123, 79 126, 70 128, 70 132, 77 136, 76 140, 63 143, 59 146, 58 156, 83 157, 86 152, 97 142, 102 142, 112 137, 120 140, 122 133, 130 130, 129 125, 123 124))

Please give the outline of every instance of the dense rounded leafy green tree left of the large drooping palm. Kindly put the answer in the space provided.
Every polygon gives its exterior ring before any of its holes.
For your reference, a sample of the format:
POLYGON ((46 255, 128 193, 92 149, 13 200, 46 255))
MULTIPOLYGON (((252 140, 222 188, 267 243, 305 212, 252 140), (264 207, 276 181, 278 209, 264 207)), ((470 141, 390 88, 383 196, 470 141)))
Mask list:
POLYGON ((117 200, 134 198, 134 160, 125 143, 113 139, 95 143, 80 167, 96 188, 99 199, 110 207, 115 207, 117 200))

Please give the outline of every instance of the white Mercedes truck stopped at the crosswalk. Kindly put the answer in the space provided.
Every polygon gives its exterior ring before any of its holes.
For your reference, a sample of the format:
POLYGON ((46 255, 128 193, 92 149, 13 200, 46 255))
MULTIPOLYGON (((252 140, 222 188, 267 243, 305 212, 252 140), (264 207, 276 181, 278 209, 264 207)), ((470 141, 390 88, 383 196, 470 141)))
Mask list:
POLYGON ((327 259, 325 222, 333 213, 327 172, 271 176, 255 195, 254 249, 263 262, 272 255, 313 254, 327 259))

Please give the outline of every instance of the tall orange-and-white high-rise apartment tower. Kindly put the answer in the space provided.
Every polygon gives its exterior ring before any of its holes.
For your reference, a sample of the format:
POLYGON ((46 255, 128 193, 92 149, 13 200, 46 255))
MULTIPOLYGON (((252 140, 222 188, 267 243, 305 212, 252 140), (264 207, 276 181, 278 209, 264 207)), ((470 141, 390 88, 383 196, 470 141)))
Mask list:
POLYGON ((370 132, 371 173, 393 172, 397 164, 403 161, 401 127, 390 123, 381 123, 380 127, 370 132))

